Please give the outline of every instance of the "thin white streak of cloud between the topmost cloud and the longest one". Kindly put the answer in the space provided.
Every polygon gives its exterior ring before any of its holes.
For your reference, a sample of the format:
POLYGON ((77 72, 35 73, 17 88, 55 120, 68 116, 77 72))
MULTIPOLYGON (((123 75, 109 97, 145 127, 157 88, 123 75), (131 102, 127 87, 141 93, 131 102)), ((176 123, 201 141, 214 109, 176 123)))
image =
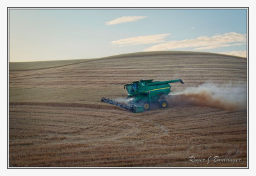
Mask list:
POLYGON ((155 34, 150 36, 136 36, 131 38, 124 38, 120 40, 111 41, 112 45, 124 47, 127 45, 141 45, 141 44, 150 44, 150 43, 162 43, 166 36, 170 34, 155 34))

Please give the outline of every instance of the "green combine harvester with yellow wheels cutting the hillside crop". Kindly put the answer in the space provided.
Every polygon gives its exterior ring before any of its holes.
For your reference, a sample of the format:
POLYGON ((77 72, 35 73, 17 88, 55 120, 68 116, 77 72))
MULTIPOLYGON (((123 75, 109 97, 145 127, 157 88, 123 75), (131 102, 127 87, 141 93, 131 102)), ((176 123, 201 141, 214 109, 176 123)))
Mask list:
POLYGON ((184 84, 182 80, 168 80, 168 81, 154 81, 153 80, 139 80, 132 82, 131 84, 125 84, 124 89, 127 90, 127 99, 131 99, 127 104, 118 103, 113 99, 102 98, 101 101, 116 105, 124 110, 131 112, 144 112, 149 110, 151 105, 157 104, 161 108, 168 106, 165 97, 171 92, 170 83, 180 82, 184 84))

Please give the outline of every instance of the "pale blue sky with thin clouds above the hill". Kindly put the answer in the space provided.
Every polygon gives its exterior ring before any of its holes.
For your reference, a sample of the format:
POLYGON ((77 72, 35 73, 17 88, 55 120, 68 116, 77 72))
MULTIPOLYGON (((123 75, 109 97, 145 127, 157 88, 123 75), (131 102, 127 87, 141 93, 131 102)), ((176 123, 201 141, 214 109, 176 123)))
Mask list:
POLYGON ((246 9, 10 9, 10 61, 154 50, 246 57, 246 9))

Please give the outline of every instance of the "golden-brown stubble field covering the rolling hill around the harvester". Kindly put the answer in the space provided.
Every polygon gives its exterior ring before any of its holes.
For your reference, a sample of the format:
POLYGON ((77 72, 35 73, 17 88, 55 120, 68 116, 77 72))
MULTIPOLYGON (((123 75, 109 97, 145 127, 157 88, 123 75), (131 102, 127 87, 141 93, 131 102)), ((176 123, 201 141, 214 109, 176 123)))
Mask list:
POLYGON ((10 63, 9 165, 246 167, 244 110, 172 105, 132 114, 100 102, 125 98, 123 84, 141 78, 182 78, 173 92, 205 81, 246 84, 246 68, 246 59, 199 52, 10 63), (241 161, 207 164, 210 156, 241 161))

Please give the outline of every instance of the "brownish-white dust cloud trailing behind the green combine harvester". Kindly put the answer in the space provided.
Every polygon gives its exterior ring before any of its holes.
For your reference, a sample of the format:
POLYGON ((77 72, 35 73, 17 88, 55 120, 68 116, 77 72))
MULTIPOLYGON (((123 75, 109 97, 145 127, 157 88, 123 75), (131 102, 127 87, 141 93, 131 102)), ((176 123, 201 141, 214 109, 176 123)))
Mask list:
POLYGON ((211 106, 230 111, 246 111, 246 84, 205 83, 198 87, 187 87, 184 91, 170 92, 167 101, 170 105, 211 106))

